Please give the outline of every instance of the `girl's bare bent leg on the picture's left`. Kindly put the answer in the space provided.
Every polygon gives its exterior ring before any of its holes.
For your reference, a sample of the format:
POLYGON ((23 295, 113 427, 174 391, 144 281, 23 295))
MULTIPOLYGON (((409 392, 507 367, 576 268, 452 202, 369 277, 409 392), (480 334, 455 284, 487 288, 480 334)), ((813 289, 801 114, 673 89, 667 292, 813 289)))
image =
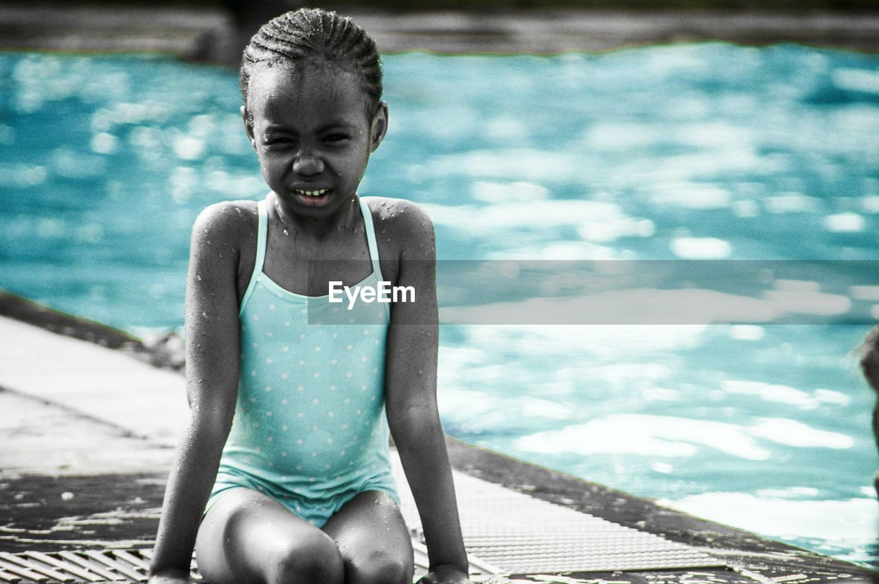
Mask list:
POLYGON ((342 584, 335 542, 265 494, 234 488, 207 512, 195 542, 211 584, 342 584))

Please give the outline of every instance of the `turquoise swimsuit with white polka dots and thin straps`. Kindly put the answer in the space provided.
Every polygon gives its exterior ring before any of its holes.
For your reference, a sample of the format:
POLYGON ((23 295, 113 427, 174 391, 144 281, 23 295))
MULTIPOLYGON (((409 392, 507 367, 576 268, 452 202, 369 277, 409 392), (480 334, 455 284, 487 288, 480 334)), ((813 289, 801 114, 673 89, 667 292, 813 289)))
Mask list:
MULTIPOLYGON (((362 198, 360 211, 373 265, 360 285, 377 286, 378 246, 362 198)), ((258 216, 257 262, 239 313, 235 417, 207 508, 246 487, 321 527, 364 491, 383 491, 399 505, 384 407, 389 305, 358 301, 347 310, 344 294, 343 303, 330 304, 277 285, 263 272, 265 200, 258 216), (330 323, 322 323, 322 310, 331 311, 330 323)))

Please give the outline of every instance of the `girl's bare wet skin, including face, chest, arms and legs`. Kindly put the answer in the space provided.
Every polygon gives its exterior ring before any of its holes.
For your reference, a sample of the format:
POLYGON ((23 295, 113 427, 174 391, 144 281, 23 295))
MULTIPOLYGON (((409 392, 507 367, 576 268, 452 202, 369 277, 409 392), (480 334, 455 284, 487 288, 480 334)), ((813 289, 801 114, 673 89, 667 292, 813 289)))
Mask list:
MULTIPOLYGON (((251 77, 249 100, 243 109, 245 129, 273 191, 268 198, 266 273, 297 290, 308 285, 297 282, 295 275, 304 271, 298 266, 309 258, 368 257, 355 189, 369 154, 384 137, 386 106, 367 118, 357 78, 340 68, 313 64, 259 70, 251 77), (303 191, 321 194, 311 197, 303 191)), ((418 304, 392 306, 385 367, 389 427, 432 559, 431 573, 422 581, 468 582, 436 407, 432 224, 416 205, 400 199, 381 200, 371 211, 388 235, 380 245, 382 272, 394 274, 396 285, 412 285, 427 297, 418 304), (387 272, 386 262, 392 263, 387 272)), ((319 530, 264 494, 235 488, 199 523, 235 409, 237 308, 243 275, 252 270, 255 227, 252 202, 211 205, 193 227, 186 298, 191 422, 169 477, 150 584, 186 581, 193 544, 200 569, 214 584, 408 584, 413 570, 410 536, 399 509, 384 494, 359 494, 319 530), (212 242, 223 242, 234 253, 218 253, 212 242)))

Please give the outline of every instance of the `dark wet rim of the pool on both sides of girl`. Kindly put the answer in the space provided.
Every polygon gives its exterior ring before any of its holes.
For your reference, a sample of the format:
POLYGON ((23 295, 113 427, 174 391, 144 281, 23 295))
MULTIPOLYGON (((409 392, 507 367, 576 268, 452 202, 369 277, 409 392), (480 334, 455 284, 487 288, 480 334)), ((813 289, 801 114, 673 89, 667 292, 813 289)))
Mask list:
MULTIPOLYGON (((0 314, 58 335, 105 348, 116 347, 129 355, 132 354, 129 343, 137 341, 119 330, 51 310, 3 291, 0 291, 0 314)), ((151 350, 142 343, 138 351, 141 354, 134 355, 138 360, 161 365, 144 358, 151 350)), ((459 472, 542 501, 703 549, 745 574, 756 573, 772 578, 773 574, 778 577, 800 571, 825 576, 827 580, 839 577, 839 574, 877 579, 877 574, 866 567, 690 516, 657 505, 650 499, 507 457, 452 437, 447 437, 447 445, 453 466, 459 472)))

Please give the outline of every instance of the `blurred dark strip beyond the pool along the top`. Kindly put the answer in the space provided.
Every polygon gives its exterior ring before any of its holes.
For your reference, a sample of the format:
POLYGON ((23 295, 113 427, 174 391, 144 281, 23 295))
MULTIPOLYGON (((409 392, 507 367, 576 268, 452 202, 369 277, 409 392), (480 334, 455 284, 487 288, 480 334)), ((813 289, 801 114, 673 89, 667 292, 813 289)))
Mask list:
MULTIPOLYGON (((167 51, 235 63, 260 24, 297 0, 0 2, 8 48, 167 51)), ((805 42, 875 50, 875 0, 387 0, 325 3, 358 19, 383 52, 603 51, 693 40, 805 42)))

